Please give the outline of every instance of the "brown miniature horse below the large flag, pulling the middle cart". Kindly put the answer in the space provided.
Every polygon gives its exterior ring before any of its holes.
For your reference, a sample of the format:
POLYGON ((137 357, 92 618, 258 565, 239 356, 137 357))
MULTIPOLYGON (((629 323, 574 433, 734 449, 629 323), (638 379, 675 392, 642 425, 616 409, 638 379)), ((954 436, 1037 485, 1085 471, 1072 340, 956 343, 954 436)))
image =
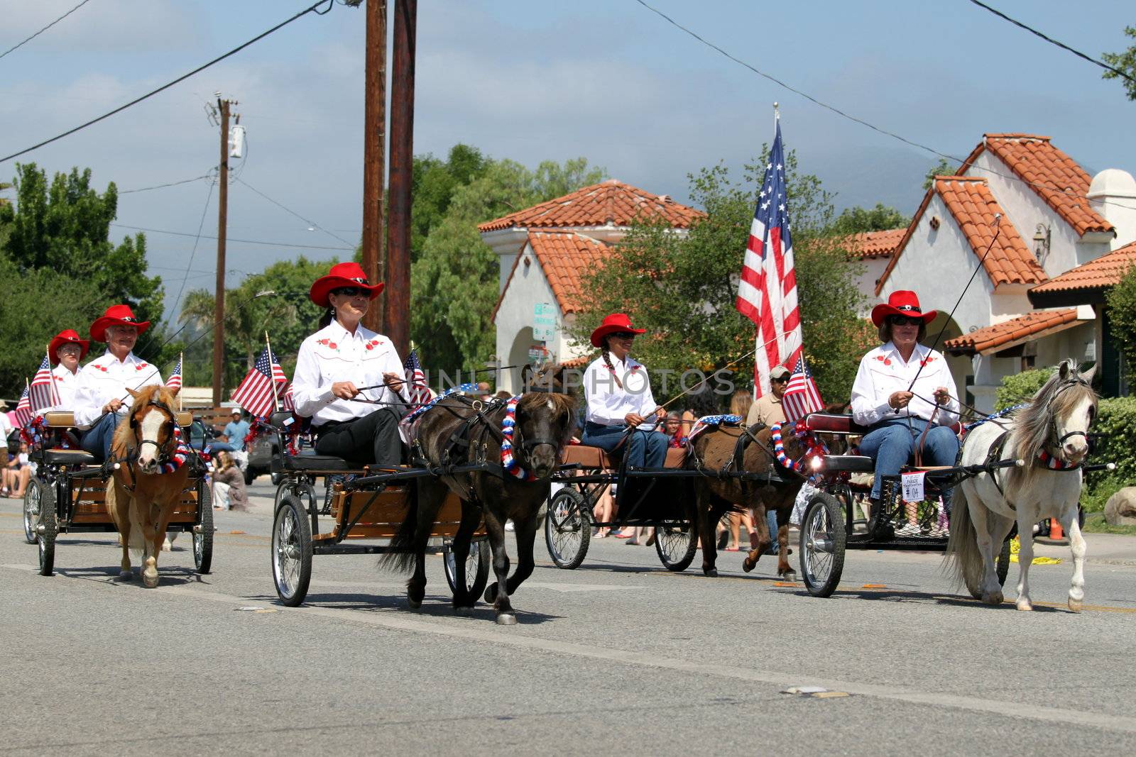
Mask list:
MULTIPOLYGON (((845 405, 832 405, 825 412, 841 413, 845 405)), ((701 464, 705 470, 722 470, 734 457, 737 439, 744 434, 745 430, 740 426, 722 424, 707 428, 694 438, 687 465, 701 464)), ((805 477, 777 462, 774 457, 772 435, 768 428, 754 431, 753 436, 757 437, 757 441, 751 440, 745 447, 741 470, 750 473, 769 471, 775 477, 780 478, 780 482, 711 477, 694 479, 699 538, 702 541, 702 572, 711 578, 718 575, 718 569, 715 566, 718 558, 715 525, 724 514, 742 507, 753 508, 753 524, 758 531, 758 546, 746 555, 742 563, 742 570, 746 573, 752 571, 758 560, 772 544, 769 527, 766 524, 766 512, 772 510, 777 513, 777 545, 779 548, 777 575, 785 577, 794 572, 788 563, 788 519, 793 514, 793 502, 796 499, 796 494, 801 490, 805 477)), ((826 438, 825 440, 834 452, 836 452, 834 445, 841 444, 840 439, 826 438)), ((792 434, 784 434, 782 441, 785 446, 785 454, 790 459, 799 460, 804 455, 804 444, 792 434)), ((730 468, 738 470, 736 462, 730 468)))

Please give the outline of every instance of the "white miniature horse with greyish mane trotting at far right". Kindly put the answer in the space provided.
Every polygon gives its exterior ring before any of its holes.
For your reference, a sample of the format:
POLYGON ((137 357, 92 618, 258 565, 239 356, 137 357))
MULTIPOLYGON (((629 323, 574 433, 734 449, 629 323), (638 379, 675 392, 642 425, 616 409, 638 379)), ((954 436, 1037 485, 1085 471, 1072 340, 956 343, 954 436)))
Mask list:
POLYGON ((1080 612, 1085 598, 1085 539, 1077 522, 1080 462, 1088 453, 1088 427, 1096 417, 1096 394, 1089 387, 1094 367, 1080 376, 1075 361, 1053 372, 1027 407, 1008 420, 983 423, 962 443, 961 465, 982 465, 995 447, 994 460, 1024 460, 1022 468, 995 469, 964 479, 954 489, 951 538, 946 561, 955 586, 966 584, 975 599, 1002 604, 994 556, 1014 520, 1018 554, 1018 609, 1029 602, 1029 564, 1034 560, 1033 525, 1055 518, 1069 535, 1072 584, 1069 609, 1080 612), (1003 452, 1004 451, 1004 452, 1003 452))

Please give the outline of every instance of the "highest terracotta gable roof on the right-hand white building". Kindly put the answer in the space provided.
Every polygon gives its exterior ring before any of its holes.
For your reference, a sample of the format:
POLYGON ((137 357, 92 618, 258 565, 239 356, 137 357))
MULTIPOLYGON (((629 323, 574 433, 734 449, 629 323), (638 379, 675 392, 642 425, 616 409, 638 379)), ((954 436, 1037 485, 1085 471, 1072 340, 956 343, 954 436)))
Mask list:
POLYGON ((1058 150, 1047 136, 1035 134, 984 134, 959 174, 966 174, 983 150, 989 150, 1064 219, 1078 235, 1113 232, 1116 227, 1088 204, 1092 177, 1077 161, 1058 150))

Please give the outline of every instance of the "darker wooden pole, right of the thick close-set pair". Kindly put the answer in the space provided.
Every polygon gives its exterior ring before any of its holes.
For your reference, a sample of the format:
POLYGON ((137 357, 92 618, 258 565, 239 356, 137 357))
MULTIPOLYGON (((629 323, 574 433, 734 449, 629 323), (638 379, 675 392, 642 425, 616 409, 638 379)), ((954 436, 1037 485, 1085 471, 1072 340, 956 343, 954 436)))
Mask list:
POLYGON ((391 77, 391 201, 386 227, 386 336, 410 348, 410 188, 414 178, 415 25, 418 0, 394 0, 391 77))

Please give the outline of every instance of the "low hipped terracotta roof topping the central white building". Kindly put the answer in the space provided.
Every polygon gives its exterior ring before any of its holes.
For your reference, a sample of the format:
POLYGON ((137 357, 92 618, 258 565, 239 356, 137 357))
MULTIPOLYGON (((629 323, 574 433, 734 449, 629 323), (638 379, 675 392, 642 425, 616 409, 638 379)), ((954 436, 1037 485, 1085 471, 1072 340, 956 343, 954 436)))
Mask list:
POLYGON ((704 215, 665 194, 651 194, 630 184, 608 179, 479 224, 477 229, 495 232, 511 227, 628 226, 636 218, 652 217, 661 217, 675 228, 690 228, 691 224, 704 215))

